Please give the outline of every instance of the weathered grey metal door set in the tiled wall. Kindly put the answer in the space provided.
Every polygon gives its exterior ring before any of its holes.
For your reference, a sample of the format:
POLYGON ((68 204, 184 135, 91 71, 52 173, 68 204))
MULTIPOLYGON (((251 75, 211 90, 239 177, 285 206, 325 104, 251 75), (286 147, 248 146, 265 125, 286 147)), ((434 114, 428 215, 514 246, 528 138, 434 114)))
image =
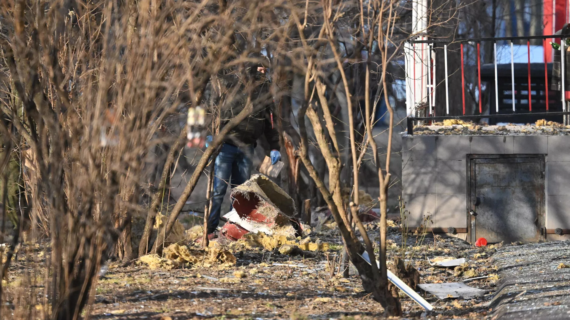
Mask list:
POLYGON ((543 239, 544 155, 470 155, 471 243, 543 239))

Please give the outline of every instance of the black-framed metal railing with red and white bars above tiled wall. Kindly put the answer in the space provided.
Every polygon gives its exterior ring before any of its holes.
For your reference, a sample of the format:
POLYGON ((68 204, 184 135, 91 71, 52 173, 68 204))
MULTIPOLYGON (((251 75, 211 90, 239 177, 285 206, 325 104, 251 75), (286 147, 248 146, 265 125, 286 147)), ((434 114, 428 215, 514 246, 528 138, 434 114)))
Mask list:
MULTIPOLYGON (((564 116, 564 122, 568 122, 567 115, 570 114, 569 108, 567 105, 567 101, 570 99, 570 92, 565 90, 565 82, 567 82, 566 74, 568 70, 566 69, 567 55, 560 54, 560 77, 557 80, 557 85, 559 85, 560 92, 556 93, 554 97, 552 94, 549 94, 549 81, 548 79, 548 65, 547 61, 547 48, 551 47, 549 44, 549 39, 560 39, 560 53, 566 52, 568 46, 565 44, 566 38, 570 38, 570 35, 543 35, 543 36, 516 36, 516 37, 504 37, 504 38, 471 38, 471 39, 427 39, 426 37, 420 37, 416 40, 410 40, 409 42, 405 43, 404 46, 404 53, 405 53, 405 62, 406 62, 406 109, 408 112, 408 133, 412 134, 411 126, 413 125, 414 121, 441 121, 450 118, 458 118, 461 120, 476 120, 481 118, 497 118, 497 117, 512 117, 512 116, 525 116, 525 115, 532 115, 534 117, 537 116, 564 116), (531 40, 539 39, 542 40, 543 45, 543 55, 544 55, 544 99, 545 99, 545 110, 536 110, 533 113, 533 95, 535 96, 535 103, 541 102, 543 100, 538 100, 538 97, 542 95, 543 91, 538 90, 538 85, 536 85, 536 90, 533 91, 531 88, 531 40), (515 94, 517 91, 515 90, 515 57, 514 57, 514 42, 524 42, 526 41, 527 44, 527 83, 528 83, 528 112, 524 112, 521 108, 516 108, 516 101, 519 101, 519 105, 522 104, 522 99, 515 99, 515 94), (510 44, 510 94, 511 94, 511 104, 512 104, 512 113, 507 112, 508 110, 499 110, 499 75, 498 75, 498 59, 497 59, 497 43, 504 42, 507 44, 507 48, 510 44), (459 43, 459 54, 461 55, 461 87, 459 87, 458 83, 450 84, 449 81, 449 73, 448 73, 448 48, 447 46, 452 43, 459 43), (493 86, 487 87, 486 92, 488 96, 491 97, 492 93, 494 93, 494 101, 489 99, 488 101, 488 108, 487 110, 483 110, 482 105, 482 85, 481 85, 481 44, 482 43, 492 43, 492 58, 493 67, 494 67, 494 88, 493 86), (436 44, 439 46, 436 47, 436 44), (441 47, 443 44, 443 48, 441 47), (477 80, 475 83, 471 83, 471 88, 473 86, 477 86, 474 88, 474 92, 476 92, 477 102, 475 104, 474 114, 466 115, 466 75, 465 75, 465 45, 476 45, 477 53, 476 55, 476 65, 477 65, 477 80), (443 51, 443 63, 445 76, 444 80, 440 81, 439 85, 445 85, 445 114, 435 114, 435 106, 438 105, 440 108, 442 107, 441 97, 436 97, 436 86, 437 78, 435 74, 435 54, 436 50, 441 53, 443 51), (461 114, 450 114, 450 99, 449 99, 449 92, 451 90, 459 89, 462 92, 462 113, 461 114), (491 92, 494 91, 494 92, 491 92), (439 100, 437 100, 439 99, 439 100), (560 112, 552 112, 550 105, 553 100, 558 100, 561 102, 561 111, 560 112), (492 102, 494 102, 496 114, 491 114, 492 102), (477 110, 478 104, 478 110, 477 110), (478 114, 477 114, 478 111, 478 114), (500 111, 502 111, 500 113, 500 111), (539 111, 538 113, 536 111, 539 111), (543 111, 543 112, 540 112, 543 111), (487 114, 483 114, 486 112, 487 114), (499 114, 500 113, 500 114, 499 114)), ((555 40, 552 40, 555 41, 555 40)), ((534 40, 534 42, 537 42, 534 40)), ((519 45, 517 45, 519 46, 519 45)), ((489 47, 487 47, 489 48, 489 47)), ((553 50, 555 50, 553 48, 553 50)), ((568 52, 570 54, 570 51, 568 52)), ((468 56, 468 63, 471 65, 475 65, 475 59, 473 56, 468 56), (471 58, 471 59, 470 59, 471 58)), ((555 56, 556 58, 556 56, 555 56)), ((489 60, 489 59, 487 59, 489 60)), ((557 61, 556 61, 557 62, 557 61)), ((534 66, 536 67, 536 65, 534 66)), ((441 70, 441 68, 439 68, 441 70)), ((504 69, 504 68, 503 68, 504 69)), ((554 69, 553 69, 554 72, 554 69)), ((502 75, 504 77, 504 74, 502 75)), ((519 79, 521 79, 519 77, 519 79)), ((539 79, 542 81, 541 79, 539 79)), ((536 81, 536 79, 535 79, 536 81)), ((458 82, 458 81, 457 81, 458 82)), ((503 90, 502 93, 507 92, 507 90, 503 90)), ((523 90, 520 90, 522 93, 523 90)), ((519 98, 521 97, 518 95, 519 98)), ((508 99, 504 99, 503 101, 508 101, 508 99)), ((502 101, 502 102, 503 102, 502 101)), ((559 102, 556 102, 559 103, 559 102)), ((504 105, 502 103, 502 105, 504 105)), ((471 112, 470 112, 471 113, 471 112)))

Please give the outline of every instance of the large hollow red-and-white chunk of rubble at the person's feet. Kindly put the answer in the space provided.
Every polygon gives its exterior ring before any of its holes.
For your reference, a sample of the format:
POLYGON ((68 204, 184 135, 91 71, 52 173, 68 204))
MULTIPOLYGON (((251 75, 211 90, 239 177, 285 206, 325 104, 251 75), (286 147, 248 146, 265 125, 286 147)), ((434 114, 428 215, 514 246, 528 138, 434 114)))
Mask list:
POLYGON ((301 235, 295 202, 277 184, 256 174, 231 191, 234 210, 224 215, 228 221, 220 233, 230 240, 249 232, 267 235, 301 235))

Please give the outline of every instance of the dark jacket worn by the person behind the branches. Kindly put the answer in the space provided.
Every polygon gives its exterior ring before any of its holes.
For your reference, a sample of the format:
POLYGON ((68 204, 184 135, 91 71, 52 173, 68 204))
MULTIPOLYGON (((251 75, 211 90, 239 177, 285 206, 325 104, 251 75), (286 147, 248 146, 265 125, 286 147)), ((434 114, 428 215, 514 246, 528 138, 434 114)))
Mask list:
MULTIPOLYGON (((264 134, 267 138, 267 142, 269 142, 270 148, 279 150, 279 133, 275 128, 275 121, 273 121, 273 123, 271 121, 271 113, 275 110, 275 104, 268 87, 269 84, 266 82, 255 89, 251 95, 251 101, 254 105, 254 113, 231 129, 224 142, 236 146, 239 146, 242 143, 255 146, 257 145, 258 138, 264 134)), ((207 95, 211 96, 211 90, 208 91, 207 95)), ((245 108, 246 101, 247 95, 243 92, 239 92, 231 97, 231 103, 223 103, 225 107, 220 110, 221 128, 223 128, 227 122, 237 116, 237 114, 245 108)), ((276 116, 274 114, 274 120, 275 117, 276 116)))

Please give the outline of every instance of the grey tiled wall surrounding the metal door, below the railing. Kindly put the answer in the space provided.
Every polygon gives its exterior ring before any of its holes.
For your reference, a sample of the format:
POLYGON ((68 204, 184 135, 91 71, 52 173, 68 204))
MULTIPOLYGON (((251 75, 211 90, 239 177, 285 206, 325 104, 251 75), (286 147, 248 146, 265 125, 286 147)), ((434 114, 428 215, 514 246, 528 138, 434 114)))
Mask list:
POLYGON ((467 154, 546 154, 546 227, 570 229, 570 136, 404 136, 409 227, 467 227, 467 154))

